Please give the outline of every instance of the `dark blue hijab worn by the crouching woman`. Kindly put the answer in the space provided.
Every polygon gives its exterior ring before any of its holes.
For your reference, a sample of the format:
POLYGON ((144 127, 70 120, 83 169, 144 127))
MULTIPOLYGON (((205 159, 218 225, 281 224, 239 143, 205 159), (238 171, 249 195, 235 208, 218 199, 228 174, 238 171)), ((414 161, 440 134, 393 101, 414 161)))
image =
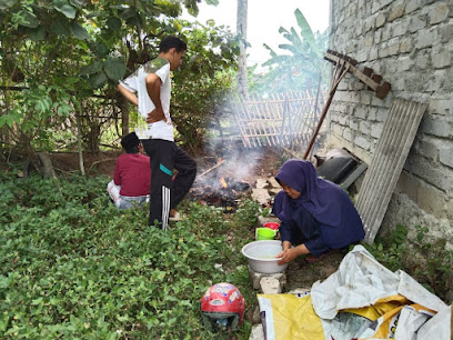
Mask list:
MULTIPOLYGON (((275 196, 273 213, 282 221, 290 222, 292 212, 303 207, 320 223, 330 227, 340 227, 344 221, 344 201, 350 201, 342 188, 316 176, 313 164, 305 160, 290 159, 283 163, 275 176, 279 183, 282 181, 301 192, 293 200, 284 190, 275 196)), ((349 202, 352 204, 352 202, 349 202)))

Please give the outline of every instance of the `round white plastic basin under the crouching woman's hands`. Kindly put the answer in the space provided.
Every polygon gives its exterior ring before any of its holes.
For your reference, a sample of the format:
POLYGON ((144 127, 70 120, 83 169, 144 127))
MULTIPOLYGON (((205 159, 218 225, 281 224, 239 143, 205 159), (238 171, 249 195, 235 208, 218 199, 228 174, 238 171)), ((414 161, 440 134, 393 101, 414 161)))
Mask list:
POLYGON ((278 240, 254 241, 242 247, 242 254, 248 259, 250 268, 263 273, 278 273, 286 269, 288 263, 279 266, 279 259, 275 259, 281 251, 282 242, 278 240))

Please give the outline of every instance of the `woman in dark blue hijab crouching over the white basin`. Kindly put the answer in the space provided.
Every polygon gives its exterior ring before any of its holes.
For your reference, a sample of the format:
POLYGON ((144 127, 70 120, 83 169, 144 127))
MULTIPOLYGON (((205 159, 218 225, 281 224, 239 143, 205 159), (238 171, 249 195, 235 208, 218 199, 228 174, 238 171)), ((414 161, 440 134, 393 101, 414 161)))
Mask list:
POLYGON ((282 221, 283 251, 276 256, 279 264, 308 253, 315 260, 330 250, 364 238, 362 220, 346 192, 331 181, 318 178, 311 162, 290 159, 280 168, 275 179, 283 188, 275 196, 272 209, 282 221))

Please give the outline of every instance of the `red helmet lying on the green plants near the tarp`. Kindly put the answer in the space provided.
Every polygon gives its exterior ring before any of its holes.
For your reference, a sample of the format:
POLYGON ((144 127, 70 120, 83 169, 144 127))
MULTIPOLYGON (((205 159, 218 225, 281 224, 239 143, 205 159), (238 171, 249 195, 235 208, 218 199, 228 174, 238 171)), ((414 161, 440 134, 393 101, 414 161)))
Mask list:
POLYGON ((200 300, 203 326, 211 330, 235 331, 242 324, 245 300, 238 288, 221 282, 211 286, 200 300))

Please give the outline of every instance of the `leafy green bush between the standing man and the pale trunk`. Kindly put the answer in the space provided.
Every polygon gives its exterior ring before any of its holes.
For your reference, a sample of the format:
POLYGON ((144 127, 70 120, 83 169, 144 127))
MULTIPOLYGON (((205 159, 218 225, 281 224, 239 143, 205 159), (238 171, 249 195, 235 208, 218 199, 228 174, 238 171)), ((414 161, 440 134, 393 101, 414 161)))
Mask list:
POLYGON ((191 47, 188 62, 174 74, 172 117, 187 146, 194 151, 202 148, 210 121, 235 82, 239 42, 217 28, 214 21, 207 27, 192 24, 184 33, 191 47))

